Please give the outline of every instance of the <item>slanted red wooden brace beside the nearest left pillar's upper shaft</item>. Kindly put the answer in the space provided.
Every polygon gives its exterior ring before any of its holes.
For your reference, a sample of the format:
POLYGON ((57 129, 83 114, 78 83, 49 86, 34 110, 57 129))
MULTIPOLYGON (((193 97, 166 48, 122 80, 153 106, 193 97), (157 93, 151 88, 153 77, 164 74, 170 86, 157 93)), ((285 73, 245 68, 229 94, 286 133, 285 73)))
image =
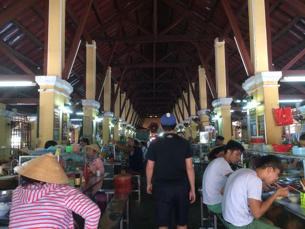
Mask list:
POLYGON ((69 78, 70 70, 74 63, 75 55, 78 51, 80 38, 83 33, 83 29, 84 29, 84 26, 85 26, 85 23, 86 23, 86 20, 88 17, 89 10, 91 8, 91 4, 92 4, 92 0, 88 0, 87 5, 85 6, 85 8, 82 12, 81 20, 78 24, 77 31, 74 36, 73 42, 72 42, 72 46, 71 46, 70 52, 68 54, 68 58, 66 60, 65 67, 63 69, 62 79, 64 79, 64 80, 67 80, 69 78))

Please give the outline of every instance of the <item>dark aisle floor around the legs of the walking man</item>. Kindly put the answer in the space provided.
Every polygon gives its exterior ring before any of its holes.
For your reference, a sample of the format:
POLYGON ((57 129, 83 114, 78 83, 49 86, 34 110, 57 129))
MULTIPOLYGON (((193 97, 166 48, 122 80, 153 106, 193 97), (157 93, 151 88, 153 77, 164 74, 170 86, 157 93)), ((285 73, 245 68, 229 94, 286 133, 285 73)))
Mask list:
MULTIPOLYGON (((189 206, 188 212, 188 228, 200 228, 201 216, 200 216, 200 195, 198 192, 198 186, 201 187, 202 180, 196 179, 196 201, 189 206)), ((147 194, 146 192, 146 176, 141 175, 141 196, 138 196, 137 192, 133 192, 131 196, 131 213, 129 215, 129 228, 130 229, 143 229, 143 228, 158 228, 156 224, 156 210, 153 194, 147 194)), ((207 216, 206 207, 204 207, 204 217, 207 216)), ((170 229, 176 228, 174 223, 174 214, 172 216, 170 229)), ((211 227, 211 224, 207 221, 204 222, 204 227, 211 227)), ((124 228, 126 226, 124 225, 124 228)), ((223 227, 218 227, 222 229, 223 227)))

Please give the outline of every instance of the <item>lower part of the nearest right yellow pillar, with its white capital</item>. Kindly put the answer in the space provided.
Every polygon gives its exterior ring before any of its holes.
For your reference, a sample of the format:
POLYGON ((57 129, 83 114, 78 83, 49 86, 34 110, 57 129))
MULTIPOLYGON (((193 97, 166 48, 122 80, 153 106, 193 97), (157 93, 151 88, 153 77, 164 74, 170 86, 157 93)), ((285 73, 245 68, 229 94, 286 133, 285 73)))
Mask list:
MULTIPOLYGON (((282 144, 281 127, 276 125, 273 111, 274 108, 279 107, 278 80, 281 77, 282 72, 280 71, 261 72, 250 77, 242 84, 243 89, 246 90, 249 96, 253 96, 252 102, 247 104, 247 106, 256 107, 256 117, 265 115, 266 144, 282 144), (256 103, 261 104, 256 105, 256 103)), ((247 110, 247 114, 249 115, 249 109, 247 110)))

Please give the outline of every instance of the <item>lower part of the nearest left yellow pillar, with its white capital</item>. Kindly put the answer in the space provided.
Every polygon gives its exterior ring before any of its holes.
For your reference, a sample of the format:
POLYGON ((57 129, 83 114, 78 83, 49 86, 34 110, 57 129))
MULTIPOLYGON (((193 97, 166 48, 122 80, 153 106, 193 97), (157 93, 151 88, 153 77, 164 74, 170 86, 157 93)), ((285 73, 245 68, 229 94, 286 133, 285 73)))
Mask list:
POLYGON ((62 117, 65 112, 64 104, 69 103, 73 87, 57 76, 36 76, 35 81, 40 86, 38 147, 43 148, 48 140, 55 140, 59 145, 67 144, 68 139, 62 140, 62 117), (54 116, 57 112, 59 112, 59 125, 54 125, 56 120, 54 116), (56 126, 57 128, 59 126, 59 129, 54 129, 56 126))

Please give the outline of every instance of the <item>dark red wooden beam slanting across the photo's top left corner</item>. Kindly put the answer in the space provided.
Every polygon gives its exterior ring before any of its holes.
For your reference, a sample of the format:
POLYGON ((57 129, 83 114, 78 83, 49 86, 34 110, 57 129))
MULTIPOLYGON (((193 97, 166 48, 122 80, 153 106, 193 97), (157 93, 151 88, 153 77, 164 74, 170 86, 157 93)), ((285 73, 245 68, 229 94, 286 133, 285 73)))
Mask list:
POLYGON ((9 23, 15 17, 19 16, 25 10, 35 5, 39 0, 22 0, 17 1, 14 5, 10 6, 4 12, 0 13, 0 28, 9 23))

